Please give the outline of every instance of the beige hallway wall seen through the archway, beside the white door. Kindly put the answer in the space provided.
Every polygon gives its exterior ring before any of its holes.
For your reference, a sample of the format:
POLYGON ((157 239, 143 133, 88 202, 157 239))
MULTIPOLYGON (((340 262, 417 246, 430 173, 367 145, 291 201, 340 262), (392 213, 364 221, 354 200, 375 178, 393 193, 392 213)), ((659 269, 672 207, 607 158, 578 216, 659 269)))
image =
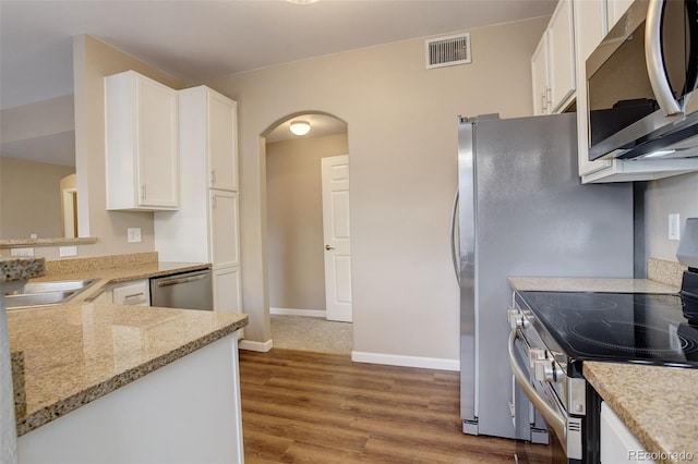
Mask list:
POLYGON ((321 159, 348 152, 346 133, 266 145, 270 307, 325 309, 321 159))

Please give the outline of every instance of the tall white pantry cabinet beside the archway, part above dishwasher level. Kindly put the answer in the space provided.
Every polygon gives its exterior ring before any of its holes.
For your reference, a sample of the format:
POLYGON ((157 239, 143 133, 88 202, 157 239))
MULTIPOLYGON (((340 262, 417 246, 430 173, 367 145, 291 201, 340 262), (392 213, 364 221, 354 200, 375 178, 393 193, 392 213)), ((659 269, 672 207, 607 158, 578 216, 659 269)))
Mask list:
POLYGON ((240 266, 237 105, 200 86, 179 91, 181 205, 155 213, 161 260, 240 266))

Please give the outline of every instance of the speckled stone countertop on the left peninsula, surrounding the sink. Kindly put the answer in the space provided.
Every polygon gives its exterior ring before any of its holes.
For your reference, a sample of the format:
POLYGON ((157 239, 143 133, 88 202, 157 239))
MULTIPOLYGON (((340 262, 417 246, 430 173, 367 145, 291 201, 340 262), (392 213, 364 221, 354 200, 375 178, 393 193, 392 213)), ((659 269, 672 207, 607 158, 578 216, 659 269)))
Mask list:
POLYGON ((91 302, 109 283, 207 267, 152 262, 33 279, 99 281, 62 305, 8 310, 17 435, 246 326, 244 314, 91 302))

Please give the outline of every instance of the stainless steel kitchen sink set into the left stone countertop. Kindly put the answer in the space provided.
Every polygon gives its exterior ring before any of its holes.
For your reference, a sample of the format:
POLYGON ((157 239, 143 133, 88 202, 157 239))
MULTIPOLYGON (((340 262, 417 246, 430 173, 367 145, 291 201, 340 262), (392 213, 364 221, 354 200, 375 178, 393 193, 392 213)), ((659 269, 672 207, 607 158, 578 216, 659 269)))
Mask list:
POLYGON ((8 309, 23 309, 59 305, 68 302, 95 282, 97 279, 29 282, 24 288, 5 295, 5 307, 8 309))

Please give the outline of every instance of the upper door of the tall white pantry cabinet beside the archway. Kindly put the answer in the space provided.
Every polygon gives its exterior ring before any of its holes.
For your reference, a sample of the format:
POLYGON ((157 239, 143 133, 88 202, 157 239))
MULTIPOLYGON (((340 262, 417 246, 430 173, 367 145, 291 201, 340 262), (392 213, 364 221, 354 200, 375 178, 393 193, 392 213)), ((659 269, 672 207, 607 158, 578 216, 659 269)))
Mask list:
POLYGON ((238 191, 237 103, 208 90, 208 163, 210 187, 238 191))

